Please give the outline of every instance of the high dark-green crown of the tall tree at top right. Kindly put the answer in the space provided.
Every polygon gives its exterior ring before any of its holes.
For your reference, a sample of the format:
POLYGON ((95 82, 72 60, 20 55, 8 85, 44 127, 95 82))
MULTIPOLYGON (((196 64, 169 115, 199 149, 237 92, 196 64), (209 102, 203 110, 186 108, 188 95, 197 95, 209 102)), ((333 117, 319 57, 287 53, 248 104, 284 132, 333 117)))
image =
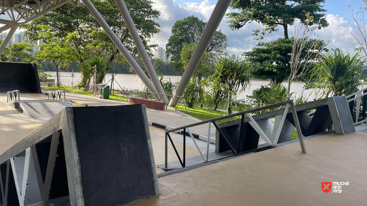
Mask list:
MULTIPOLYGON (((295 19, 306 21, 306 13, 314 18, 309 25, 317 25, 318 29, 327 27, 325 19, 326 10, 322 3, 325 0, 233 0, 230 7, 235 10, 227 14, 231 29, 240 29, 246 23, 257 22, 265 26, 261 37, 268 32, 277 31, 278 26, 283 26, 284 38, 288 38, 288 26, 294 24, 295 19)), ((257 36, 259 29, 254 30, 257 36)))

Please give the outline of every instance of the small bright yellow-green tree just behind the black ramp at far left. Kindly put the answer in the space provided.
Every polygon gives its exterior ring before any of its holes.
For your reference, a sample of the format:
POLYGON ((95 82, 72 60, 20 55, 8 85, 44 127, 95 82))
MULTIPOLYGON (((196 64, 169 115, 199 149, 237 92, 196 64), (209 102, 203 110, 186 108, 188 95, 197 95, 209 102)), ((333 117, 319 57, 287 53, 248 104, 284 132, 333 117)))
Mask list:
MULTIPOLYGON (((49 28, 48 26, 43 26, 44 29, 49 28)), ((59 70, 61 66, 68 66, 72 59, 73 49, 69 47, 64 39, 55 37, 54 33, 51 32, 41 32, 39 34, 40 39, 46 41, 46 43, 41 43, 39 49, 37 49, 37 57, 39 59, 48 60, 54 63, 56 67, 56 77, 57 85, 60 86, 59 70)))

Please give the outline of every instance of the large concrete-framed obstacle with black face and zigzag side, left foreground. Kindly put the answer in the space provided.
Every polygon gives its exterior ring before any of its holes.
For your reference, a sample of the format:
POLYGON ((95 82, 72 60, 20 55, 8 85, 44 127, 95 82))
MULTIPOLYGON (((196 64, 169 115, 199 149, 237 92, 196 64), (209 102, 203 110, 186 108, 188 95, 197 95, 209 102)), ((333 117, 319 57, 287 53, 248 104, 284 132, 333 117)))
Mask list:
POLYGON ((145 106, 63 109, 0 155, 0 183, 4 206, 114 206, 159 194, 145 106))

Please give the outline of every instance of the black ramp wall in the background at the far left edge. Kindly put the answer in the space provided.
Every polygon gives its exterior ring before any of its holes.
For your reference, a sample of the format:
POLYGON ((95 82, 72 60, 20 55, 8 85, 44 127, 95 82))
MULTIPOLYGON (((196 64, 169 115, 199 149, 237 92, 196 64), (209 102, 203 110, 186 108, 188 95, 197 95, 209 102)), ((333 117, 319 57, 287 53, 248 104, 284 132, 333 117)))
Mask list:
POLYGON ((36 64, 0 62, 0 92, 17 89, 21 93, 41 93, 36 64))

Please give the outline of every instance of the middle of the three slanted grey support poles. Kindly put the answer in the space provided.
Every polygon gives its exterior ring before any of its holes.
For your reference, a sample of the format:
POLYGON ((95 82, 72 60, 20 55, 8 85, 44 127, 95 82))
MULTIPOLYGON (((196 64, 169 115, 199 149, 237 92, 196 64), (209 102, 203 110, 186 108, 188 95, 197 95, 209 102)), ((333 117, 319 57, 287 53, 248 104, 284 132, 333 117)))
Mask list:
MULTIPOLYGON (((143 60, 146 71, 148 71, 149 77, 152 80, 153 85, 154 85, 157 93, 165 94, 164 89, 162 87, 162 84, 160 83, 159 78, 157 76, 157 73, 154 70, 152 62, 150 61, 148 53, 145 50, 143 42, 141 41, 141 38, 140 38, 140 36, 138 34, 138 31, 137 31, 137 28, 135 27, 134 22, 132 21, 132 18, 130 16, 129 11, 127 10, 127 7, 126 7, 126 4, 125 4, 124 0, 116 0, 116 4, 117 4, 117 7, 119 7, 121 15, 124 18, 124 21, 126 23, 126 27, 130 32, 132 40, 134 40, 134 44, 138 49, 138 52, 140 54, 141 59, 143 60)), ((161 101, 164 100, 164 102, 166 102, 166 104, 168 104, 167 96, 163 96, 163 95, 159 95, 159 96, 160 96, 159 99, 161 101)))

